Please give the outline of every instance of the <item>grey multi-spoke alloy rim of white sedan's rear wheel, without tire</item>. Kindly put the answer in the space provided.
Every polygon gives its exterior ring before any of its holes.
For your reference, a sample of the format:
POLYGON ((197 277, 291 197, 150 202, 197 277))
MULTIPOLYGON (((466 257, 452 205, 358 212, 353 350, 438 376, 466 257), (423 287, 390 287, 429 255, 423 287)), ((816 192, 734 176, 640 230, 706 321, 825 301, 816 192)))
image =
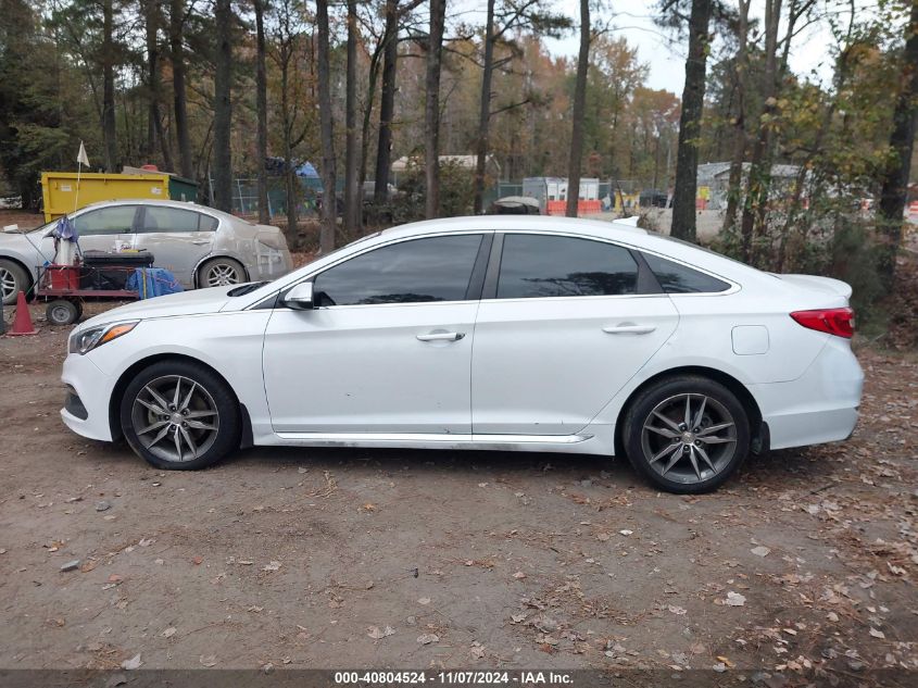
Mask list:
POLYGON ((737 422, 706 395, 681 393, 663 400, 641 430, 647 464, 662 477, 683 484, 708 480, 737 452, 737 422))

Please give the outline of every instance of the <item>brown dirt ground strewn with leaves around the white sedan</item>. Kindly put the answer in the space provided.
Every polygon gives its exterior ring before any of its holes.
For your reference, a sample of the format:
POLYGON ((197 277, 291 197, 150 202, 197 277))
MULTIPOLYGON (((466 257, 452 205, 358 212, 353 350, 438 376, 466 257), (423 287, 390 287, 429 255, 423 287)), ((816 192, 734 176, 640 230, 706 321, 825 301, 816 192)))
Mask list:
POLYGON ((33 315, 39 335, 0 338, 0 671, 918 675, 914 355, 858 351, 851 441, 686 498, 552 454, 252 449, 163 473, 61 424, 67 333, 33 315))

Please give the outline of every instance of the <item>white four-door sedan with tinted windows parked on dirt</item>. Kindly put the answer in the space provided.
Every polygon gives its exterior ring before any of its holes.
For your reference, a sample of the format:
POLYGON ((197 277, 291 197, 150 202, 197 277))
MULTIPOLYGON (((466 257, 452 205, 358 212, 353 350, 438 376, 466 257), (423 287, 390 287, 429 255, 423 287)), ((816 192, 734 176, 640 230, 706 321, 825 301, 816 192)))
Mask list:
POLYGON ((851 435, 850 296, 623 223, 438 220, 93 317, 61 415, 160 468, 252 445, 551 451, 702 492, 750 452, 851 435))

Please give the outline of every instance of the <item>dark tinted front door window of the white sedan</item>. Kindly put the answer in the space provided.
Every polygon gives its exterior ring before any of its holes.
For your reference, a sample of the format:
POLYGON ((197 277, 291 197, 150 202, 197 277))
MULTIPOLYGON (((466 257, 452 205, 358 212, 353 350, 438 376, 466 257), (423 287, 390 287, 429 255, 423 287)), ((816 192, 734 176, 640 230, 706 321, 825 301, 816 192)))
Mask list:
POLYGON ((315 279, 319 305, 462 301, 481 235, 431 237, 386 246, 315 279))

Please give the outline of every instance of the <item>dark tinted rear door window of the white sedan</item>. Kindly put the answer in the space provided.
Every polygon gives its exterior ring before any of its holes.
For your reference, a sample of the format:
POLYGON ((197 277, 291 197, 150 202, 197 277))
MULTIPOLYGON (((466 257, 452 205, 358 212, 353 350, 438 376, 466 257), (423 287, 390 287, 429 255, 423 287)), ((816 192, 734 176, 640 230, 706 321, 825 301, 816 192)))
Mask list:
POLYGON ((504 237, 499 299, 634 293, 638 264, 611 243, 540 235, 504 237))

